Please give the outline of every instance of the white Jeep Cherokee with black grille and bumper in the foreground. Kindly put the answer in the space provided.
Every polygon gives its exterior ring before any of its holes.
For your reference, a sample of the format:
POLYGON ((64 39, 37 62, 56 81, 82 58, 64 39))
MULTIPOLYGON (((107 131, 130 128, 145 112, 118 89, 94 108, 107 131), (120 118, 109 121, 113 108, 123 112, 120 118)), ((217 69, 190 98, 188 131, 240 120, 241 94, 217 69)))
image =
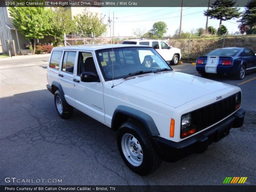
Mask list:
POLYGON ((148 46, 53 48, 47 79, 60 117, 76 108, 118 131, 120 155, 140 175, 203 152, 244 122, 240 88, 174 72, 148 46))

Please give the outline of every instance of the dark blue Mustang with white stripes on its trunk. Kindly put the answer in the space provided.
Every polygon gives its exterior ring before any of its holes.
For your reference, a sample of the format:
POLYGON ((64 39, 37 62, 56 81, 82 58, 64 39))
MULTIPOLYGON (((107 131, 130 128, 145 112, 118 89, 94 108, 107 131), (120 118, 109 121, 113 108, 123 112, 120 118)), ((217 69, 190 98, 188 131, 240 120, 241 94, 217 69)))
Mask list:
POLYGON ((196 70, 201 76, 218 74, 243 79, 245 71, 256 70, 256 54, 244 47, 215 49, 196 60, 196 70))

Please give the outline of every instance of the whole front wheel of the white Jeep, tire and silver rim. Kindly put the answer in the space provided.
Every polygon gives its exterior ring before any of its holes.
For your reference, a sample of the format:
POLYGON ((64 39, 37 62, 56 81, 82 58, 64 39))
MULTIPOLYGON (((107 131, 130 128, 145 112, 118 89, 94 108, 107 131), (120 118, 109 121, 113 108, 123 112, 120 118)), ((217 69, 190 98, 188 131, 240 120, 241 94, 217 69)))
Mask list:
POLYGON ((130 119, 120 126, 117 145, 124 163, 139 175, 148 175, 161 164, 148 132, 139 121, 130 119))

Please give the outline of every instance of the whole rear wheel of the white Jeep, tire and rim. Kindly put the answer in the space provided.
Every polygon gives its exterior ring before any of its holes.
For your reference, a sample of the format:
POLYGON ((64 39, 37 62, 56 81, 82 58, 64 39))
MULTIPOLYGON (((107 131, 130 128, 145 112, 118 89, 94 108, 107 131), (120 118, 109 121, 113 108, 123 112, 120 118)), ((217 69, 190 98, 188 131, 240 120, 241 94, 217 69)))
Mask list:
POLYGON ((54 103, 61 118, 68 119, 72 116, 73 107, 68 105, 67 101, 64 99, 64 96, 60 94, 59 90, 54 93, 54 103))

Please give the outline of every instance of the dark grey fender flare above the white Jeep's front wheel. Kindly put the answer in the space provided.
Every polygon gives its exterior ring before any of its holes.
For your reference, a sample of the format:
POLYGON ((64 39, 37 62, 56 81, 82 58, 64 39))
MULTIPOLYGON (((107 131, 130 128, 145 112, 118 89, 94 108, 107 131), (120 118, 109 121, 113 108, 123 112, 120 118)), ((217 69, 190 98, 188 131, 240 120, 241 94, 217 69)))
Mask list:
POLYGON ((130 117, 140 121, 145 126, 146 130, 148 131, 149 136, 156 137, 156 136, 160 135, 160 133, 156 127, 156 124, 151 116, 149 116, 148 114, 146 114, 142 111, 139 111, 137 109, 127 107, 124 105, 118 105, 113 114, 112 121, 111 121, 111 128, 114 131, 116 131, 118 129, 118 127, 116 127, 115 124, 116 124, 116 122, 118 122, 118 120, 120 120, 120 118, 119 118, 120 115, 130 116, 130 117))

